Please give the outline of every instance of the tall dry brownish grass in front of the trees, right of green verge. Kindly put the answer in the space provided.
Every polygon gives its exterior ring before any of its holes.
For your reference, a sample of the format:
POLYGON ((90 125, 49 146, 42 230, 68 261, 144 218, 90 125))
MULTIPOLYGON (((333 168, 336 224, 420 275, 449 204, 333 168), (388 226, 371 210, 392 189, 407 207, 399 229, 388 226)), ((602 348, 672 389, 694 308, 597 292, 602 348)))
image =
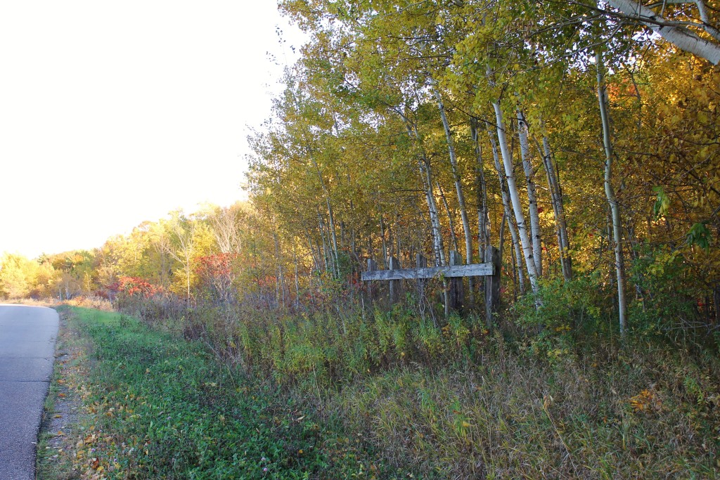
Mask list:
POLYGON ((715 478, 720 377, 696 360, 635 348, 549 364, 498 348, 482 365, 361 379, 328 409, 418 478, 715 478))

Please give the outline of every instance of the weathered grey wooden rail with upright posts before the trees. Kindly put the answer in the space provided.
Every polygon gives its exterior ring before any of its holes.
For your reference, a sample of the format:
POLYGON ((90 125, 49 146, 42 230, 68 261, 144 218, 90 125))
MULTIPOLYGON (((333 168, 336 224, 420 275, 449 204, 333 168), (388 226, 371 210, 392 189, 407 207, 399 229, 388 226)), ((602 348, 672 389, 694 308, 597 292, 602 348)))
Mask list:
POLYGON ((387 270, 378 270, 377 263, 367 261, 367 271, 362 273, 363 281, 388 281, 391 303, 400 299, 400 281, 415 280, 418 291, 422 291, 427 279, 449 279, 449 305, 451 310, 462 311, 464 277, 485 277, 485 317, 487 324, 492 323, 492 314, 500 299, 500 255, 498 249, 490 247, 485 252, 485 263, 462 264, 462 257, 456 251, 450 252, 450 265, 428 267, 427 259, 418 253, 415 268, 400 268, 397 258, 390 257, 387 270))

